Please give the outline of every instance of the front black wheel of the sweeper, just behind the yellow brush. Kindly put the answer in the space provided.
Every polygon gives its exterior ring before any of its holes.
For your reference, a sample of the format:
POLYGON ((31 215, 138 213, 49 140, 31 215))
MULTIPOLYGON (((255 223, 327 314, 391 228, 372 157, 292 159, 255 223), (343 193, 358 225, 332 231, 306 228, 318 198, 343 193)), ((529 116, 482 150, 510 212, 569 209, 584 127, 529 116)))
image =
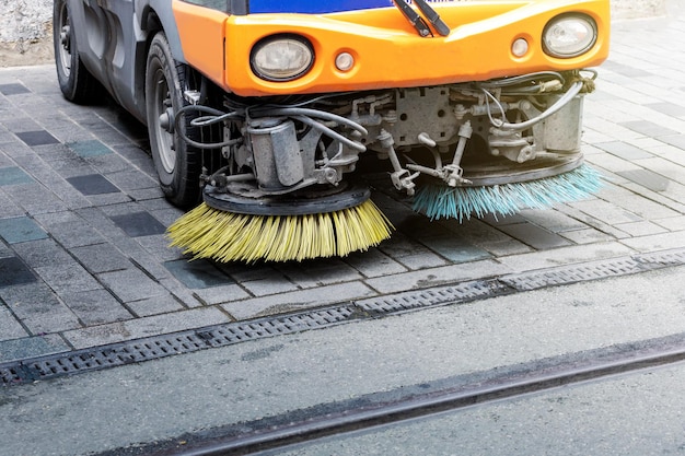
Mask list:
POLYGON ((184 116, 177 131, 175 115, 187 105, 183 89, 187 87, 188 67, 177 63, 164 33, 158 33, 148 52, 146 73, 146 107, 152 159, 166 198, 187 208, 199 202, 202 150, 188 145, 183 137, 200 141, 200 129, 189 125, 194 116, 184 116), (182 135, 183 133, 183 135, 182 135))

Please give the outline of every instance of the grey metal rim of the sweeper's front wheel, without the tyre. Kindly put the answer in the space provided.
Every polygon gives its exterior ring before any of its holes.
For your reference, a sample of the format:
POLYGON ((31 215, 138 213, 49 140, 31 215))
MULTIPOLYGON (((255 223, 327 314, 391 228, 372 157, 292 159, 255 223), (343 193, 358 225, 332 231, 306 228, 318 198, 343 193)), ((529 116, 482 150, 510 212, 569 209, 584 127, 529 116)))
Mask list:
POLYGON ((155 72, 152 116, 154 136, 156 138, 160 164, 164 172, 172 174, 176 167, 176 148, 174 142, 173 108, 169 82, 163 69, 155 72))

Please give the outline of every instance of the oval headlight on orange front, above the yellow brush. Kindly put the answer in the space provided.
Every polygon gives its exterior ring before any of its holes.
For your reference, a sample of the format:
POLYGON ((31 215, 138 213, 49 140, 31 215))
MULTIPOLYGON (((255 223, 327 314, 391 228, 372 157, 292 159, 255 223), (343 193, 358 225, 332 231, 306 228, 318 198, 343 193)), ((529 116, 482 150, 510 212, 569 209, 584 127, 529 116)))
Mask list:
POLYGON ((249 56, 252 70, 267 81, 292 81, 314 63, 312 45, 297 35, 275 35, 262 39, 249 56))

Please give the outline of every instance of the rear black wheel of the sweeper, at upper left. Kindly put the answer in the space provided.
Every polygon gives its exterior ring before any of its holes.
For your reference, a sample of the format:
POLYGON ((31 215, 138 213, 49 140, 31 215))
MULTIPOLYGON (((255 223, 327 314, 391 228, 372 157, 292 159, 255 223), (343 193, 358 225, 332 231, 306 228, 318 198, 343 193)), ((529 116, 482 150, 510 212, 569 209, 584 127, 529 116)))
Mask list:
POLYGON ((67 0, 55 0, 54 2, 53 44, 57 80, 65 98, 79 104, 92 102, 97 97, 101 85, 88 72, 79 58, 67 0))

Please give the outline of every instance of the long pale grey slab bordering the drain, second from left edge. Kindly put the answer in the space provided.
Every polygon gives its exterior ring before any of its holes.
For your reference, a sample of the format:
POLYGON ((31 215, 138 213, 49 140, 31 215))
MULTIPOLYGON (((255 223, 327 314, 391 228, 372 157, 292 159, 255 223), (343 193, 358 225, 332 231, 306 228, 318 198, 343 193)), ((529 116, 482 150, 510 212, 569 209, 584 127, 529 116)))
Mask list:
POLYGON ((201 307, 66 331, 63 337, 74 348, 80 349, 229 321, 229 316, 219 308, 201 307))

